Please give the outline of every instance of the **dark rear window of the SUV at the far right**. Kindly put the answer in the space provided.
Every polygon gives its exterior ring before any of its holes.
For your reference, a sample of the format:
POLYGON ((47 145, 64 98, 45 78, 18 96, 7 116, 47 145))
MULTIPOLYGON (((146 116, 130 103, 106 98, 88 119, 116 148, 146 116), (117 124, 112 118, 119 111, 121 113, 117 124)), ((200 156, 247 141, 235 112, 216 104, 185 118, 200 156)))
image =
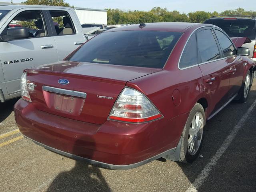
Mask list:
POLYGON ((230 37, 248 37, 255 40, 255 20, 249 19, 209 19, 205 23, 216 25, 230 37))

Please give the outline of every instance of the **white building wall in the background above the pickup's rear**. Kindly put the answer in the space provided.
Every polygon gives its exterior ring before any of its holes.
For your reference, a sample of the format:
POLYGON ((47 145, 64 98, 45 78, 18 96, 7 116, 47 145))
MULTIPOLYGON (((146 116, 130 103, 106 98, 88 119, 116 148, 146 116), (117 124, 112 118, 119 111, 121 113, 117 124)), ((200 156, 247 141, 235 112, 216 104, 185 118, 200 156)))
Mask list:
POLYGON ((76 14, 81 24, 84 23, 96 23, 96 24, 107 24, 107 12, 97 10, 82 10, 76 9, 76 14))

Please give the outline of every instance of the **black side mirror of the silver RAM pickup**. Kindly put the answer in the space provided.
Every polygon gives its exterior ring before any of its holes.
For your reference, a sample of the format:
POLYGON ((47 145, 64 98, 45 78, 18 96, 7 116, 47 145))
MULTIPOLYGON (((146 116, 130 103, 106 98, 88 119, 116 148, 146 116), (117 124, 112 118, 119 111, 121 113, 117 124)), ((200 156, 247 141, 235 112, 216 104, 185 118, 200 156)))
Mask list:
POLYGON ((24 39, 28 38, 28 29, 26 27, 13 27, 7 29, 7 35, 1 35, 0 39, 2 41, 10 41, 14 39, 24 39))

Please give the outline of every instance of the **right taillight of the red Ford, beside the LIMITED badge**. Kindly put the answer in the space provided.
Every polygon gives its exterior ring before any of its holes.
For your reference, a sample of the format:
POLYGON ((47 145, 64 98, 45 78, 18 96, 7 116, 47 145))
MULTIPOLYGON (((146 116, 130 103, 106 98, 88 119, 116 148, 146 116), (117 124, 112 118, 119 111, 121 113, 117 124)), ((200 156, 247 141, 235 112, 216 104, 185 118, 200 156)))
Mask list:
POLYGON ((162 114, 148 98, 132 88, 124 88, 118 97, 109 119, 142 123, 162 118, 162 114))

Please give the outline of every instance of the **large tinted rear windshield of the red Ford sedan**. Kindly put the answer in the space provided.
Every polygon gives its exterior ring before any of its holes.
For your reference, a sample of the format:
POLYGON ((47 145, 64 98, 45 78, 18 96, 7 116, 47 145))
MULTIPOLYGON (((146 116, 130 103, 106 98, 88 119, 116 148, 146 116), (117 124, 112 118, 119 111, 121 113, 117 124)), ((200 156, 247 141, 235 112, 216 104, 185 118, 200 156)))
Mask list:
POLYGON ((180 32, 103 32, 68 58, 71 61, 163 68, 180 32))

